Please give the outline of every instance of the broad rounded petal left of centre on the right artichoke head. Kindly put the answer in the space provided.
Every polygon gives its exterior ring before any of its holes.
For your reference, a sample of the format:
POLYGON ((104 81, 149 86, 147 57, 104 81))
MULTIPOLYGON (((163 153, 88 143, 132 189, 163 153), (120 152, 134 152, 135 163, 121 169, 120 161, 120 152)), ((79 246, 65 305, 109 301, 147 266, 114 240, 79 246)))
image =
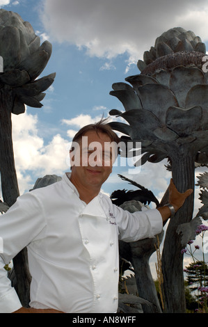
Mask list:
POLYGON ((143 109, 151 111, 159 118, 161 125, 166 125, 166 111, 170 106, 178 106, 175 95, 161 84, 145 84, 138 88, 143 109))

